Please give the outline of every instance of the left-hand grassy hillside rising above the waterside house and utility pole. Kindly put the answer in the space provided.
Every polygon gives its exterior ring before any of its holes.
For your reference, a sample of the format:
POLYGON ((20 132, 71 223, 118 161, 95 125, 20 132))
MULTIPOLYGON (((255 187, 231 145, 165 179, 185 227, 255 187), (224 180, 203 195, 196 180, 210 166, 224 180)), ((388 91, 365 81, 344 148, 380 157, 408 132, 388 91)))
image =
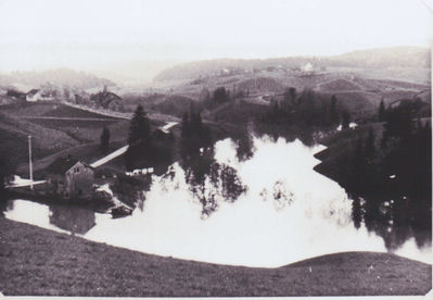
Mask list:
POLYGON ((125 141, 125 134, 129 127, 128 120, 105 116, 55 102, 2 105, 0 107, 1 154, 10 157, 12 165, 26 164, 29 135, 33 137, 35 161, 84 143, 95 143, 94 149, 90 151, 95 152, 99 150, 99 139, 104 126, 111 130, 112 143, 125 141))

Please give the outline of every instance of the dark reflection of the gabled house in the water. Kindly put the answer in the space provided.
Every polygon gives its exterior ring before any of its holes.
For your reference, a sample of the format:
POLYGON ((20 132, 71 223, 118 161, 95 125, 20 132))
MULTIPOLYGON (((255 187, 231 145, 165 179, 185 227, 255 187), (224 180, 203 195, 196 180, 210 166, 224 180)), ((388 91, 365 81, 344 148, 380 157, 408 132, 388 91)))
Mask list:
POLYGON ((94 212, 77 207, 50 205, 50 223, 73 235, 84 235, 95 225, 94 212))

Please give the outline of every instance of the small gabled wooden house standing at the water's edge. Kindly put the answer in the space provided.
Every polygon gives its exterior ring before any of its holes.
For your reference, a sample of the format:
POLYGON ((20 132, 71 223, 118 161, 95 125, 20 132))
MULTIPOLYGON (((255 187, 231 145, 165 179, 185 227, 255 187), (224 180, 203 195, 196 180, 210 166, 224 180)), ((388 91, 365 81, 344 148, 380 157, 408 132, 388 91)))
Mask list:
POLYGON ((93 191, 93 168, 72 157, 56 159, 47 167, 46 176, 54 195, 87 197, 93 191))

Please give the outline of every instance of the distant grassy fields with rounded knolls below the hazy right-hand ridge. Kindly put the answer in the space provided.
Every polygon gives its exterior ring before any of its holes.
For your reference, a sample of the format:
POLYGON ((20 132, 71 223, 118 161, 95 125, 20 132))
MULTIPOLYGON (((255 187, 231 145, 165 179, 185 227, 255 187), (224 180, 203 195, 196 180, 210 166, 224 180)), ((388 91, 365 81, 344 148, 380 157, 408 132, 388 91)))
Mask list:
POLYGON ((213 91, 218 86, 232 89, 235 85, 238 90, 249 89, 251 93, 258 95, 280 93, 286 87, 295 87, 297 91, 313 88, 329 97, 336 95, 340 102, 344 103, 354 115, 374 113, 382 98, 385 103, 389 103, 399 98, 412 98, 418 92, 430 89, 426 85, 383 78, 371 79, 365 74, 358 73, 354 76, 353 72, 339 71, 308 76, 262 71, 257 74, 212 76, 201 82, 203 83, 173 88, 177 93, 192 98, 198 98, 200 90, 204 87, 213 91))

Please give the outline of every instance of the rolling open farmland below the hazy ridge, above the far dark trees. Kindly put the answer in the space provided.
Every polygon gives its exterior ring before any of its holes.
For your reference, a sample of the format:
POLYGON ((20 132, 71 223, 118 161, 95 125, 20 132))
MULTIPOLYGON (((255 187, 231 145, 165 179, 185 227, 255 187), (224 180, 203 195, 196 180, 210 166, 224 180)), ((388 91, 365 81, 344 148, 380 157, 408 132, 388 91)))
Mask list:
MULTIPOLYGON (((169 89, 161 90, 157 95, 151 95, 143 99, 142 103, 150 109, 162 109, 165 104, 163 102, 169 95, 177 95, 188 97, 189 99, 199 101, 202 99, 203 90, 207 90, 212 96, 216 88, 225 87, 230 91, 230 95, 240 96, 238 102, 240 107, 217 109, 218 112, 206 112, 205 117, 209 120, 235 120, 233 114, 244 115, 251 113, 251 104, 259 104, 253 108, 253 111, 263 111, 264 104, 269 104, 271 99, 281 99, 282 95, 289 88, 295 88, 300 93, 305 89, 313 89, 318 95, 330 99, 336 96, 339 103, 346 107, 352 113, 354 120, 369 118, 378 112, 380 101, 383 99, 385 104, 391 104, 397 100, 419 98, 425 103, 431 103, 430 85, 406 80, 387 79, 386 77, 370 78, 361 73, 332 71, 319 72, 313 74, 303 74, 300 72, 284 73, 281 70, 263 70, 254 74, 228 74, 216 75, 201 79, 191 80, 190 84, 174 85, 169 89), (235 111, 235 113, 234 113, 235 111), (245 114, 244 112, 245 111, 245 114), (247 113, 246 113, 247 112, 247 113), (234 117, 234 118, 233 118, 234 117)), ((238 97, 238 96, 237 96, 238 97)), ((175 98, 171 99, 168 107, 171 111, 181 112, 179 107, 189 103, 179 100, 175 104, 175 98)), ((167 103, 166 103, 167 104, 167 103)), ((173 113, 168 110, 165 113, 173 113)), ((179 115, 179 114, 177 114, 179 115)), ((240 118, 238 118, 239 121, 240 118)), ((243 120, 243 118, 242 118, 243 120)))

